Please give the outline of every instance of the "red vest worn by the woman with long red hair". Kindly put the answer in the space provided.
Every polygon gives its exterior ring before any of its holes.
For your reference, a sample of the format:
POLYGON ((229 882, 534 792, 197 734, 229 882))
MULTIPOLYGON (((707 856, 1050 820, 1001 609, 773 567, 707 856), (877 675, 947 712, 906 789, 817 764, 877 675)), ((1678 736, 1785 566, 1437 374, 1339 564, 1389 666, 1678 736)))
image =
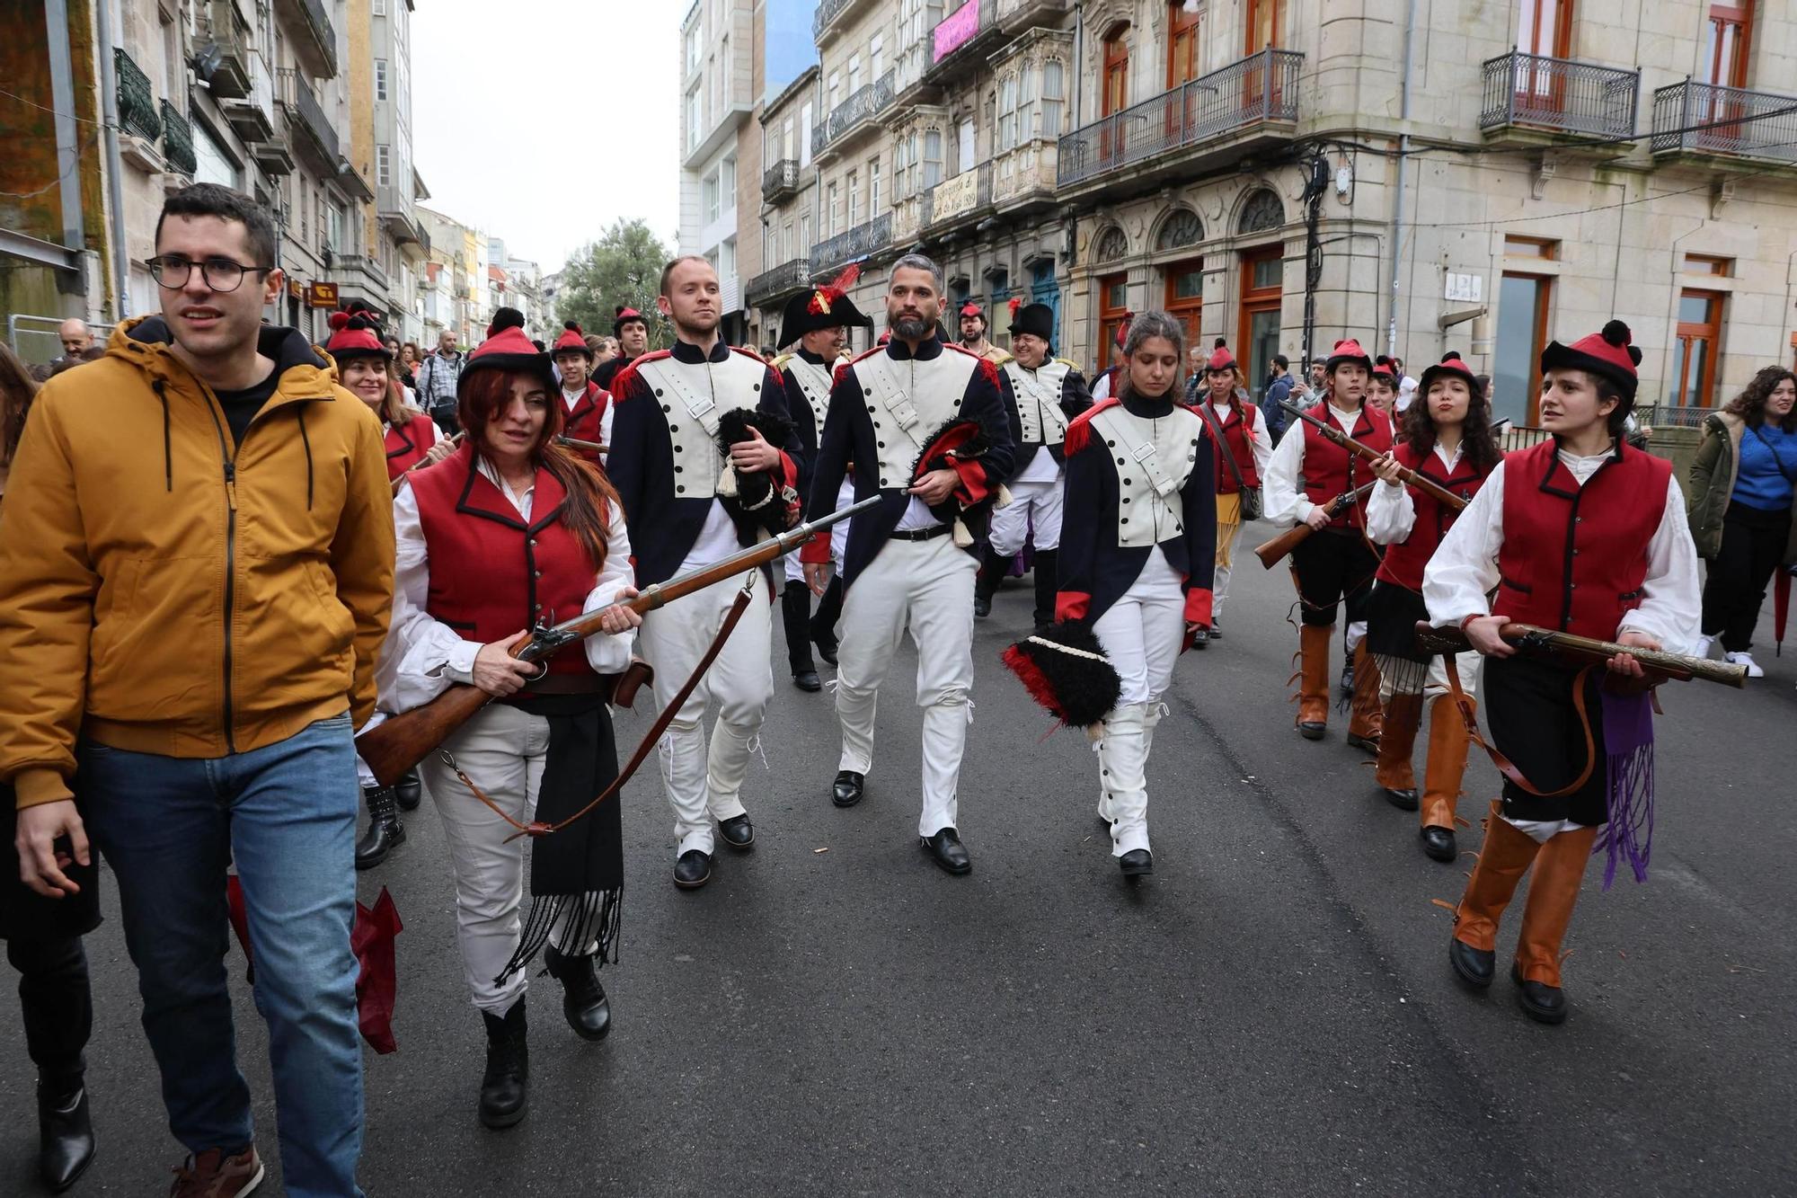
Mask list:
MULTIPOLYGON (((412 475, 429 558, 424 610, 467 640, 505 640, 537 621, 579 615, 598 570, 561 522, 562 486, 537 469, 527 525, 474 468, 474 451, 412 475)), ((600 518, 606 518, 600 513, 600 518)), ((586 653, 557 653, 552 675, 591 675, 586 653)))

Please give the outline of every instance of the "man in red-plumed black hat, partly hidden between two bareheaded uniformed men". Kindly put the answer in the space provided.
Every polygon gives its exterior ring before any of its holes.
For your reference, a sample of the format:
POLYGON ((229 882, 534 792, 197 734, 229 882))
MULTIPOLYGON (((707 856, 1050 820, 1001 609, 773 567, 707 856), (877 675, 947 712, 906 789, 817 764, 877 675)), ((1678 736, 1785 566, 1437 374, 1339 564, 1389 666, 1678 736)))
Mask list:
MULTIPOLYGON (((818 443, 823 435, 823 417, 830 410, 830 380, 837 363, 845 358, 846 326, 868 324, 855 302, 848 299, 848 288, 861 277, 859 266, 845 270, 836 282, 800 291, 787 300, 780 317, 780 349, 798 342, 798 351, 783 353, 773 360, 773 369, 785 383, 787 412, 798 428, 798 441, 805 457, 800 462, 800 496, 810 498, 810 477, 818 464, 818 443)), ((854 502, 855 486, 843 478, 837 487, 836 505, 854 502)), ((837 523, 830 529, 830 559, 841 567, 843 547, 848 541, 848 525, 837 523)), ((792 685, 800 691, 821 691, 818 664, 810 657, 816 640, 818 653, 828 664, 836 664, 836 619, 843 610, 843 581, 830 579, 830 588, 818 603, 818 621, 810 617, 810 586, 805 585, 805 567, 798 554, 785 558, 785 592, 780 597, 780 613, 785 621, 787 664, 792 667, 792 685)))

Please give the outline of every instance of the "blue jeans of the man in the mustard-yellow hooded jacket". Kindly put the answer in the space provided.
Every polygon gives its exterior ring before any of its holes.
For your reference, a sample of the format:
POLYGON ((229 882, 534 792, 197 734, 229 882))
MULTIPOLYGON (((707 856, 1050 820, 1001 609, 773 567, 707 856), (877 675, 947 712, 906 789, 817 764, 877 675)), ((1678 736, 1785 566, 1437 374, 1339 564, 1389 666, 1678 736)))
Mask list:
POLYGON ((119 880, 144 1033, 169 1130, 192 1153, 250 1144, 225 984, 225 872, 235 860, 268 1022, 289 1194, 345 1198, 361 1155, 354 842, 361 788, 349 714, 216 759, 83 745, 88 833, 119 880))

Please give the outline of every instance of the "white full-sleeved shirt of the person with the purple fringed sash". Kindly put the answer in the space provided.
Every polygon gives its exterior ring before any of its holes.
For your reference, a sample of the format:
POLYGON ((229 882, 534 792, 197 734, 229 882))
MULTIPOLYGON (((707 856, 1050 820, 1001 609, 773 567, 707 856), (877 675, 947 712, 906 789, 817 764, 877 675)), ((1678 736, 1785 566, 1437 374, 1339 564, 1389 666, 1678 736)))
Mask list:
MULTIPOLYGON (((1598 473, 1612 450, 1578 457, 1560 450, 1560 460, 1580 486, 1598 473)), ((1382 487, 1377 487, 1382 489, 1382 487)), ((1470 615, 1493 615, 1486 594, 1497 586, 1497 552, 1504 547, 1504 462, 1479 487, 1459 514, 1441 547, 1423 570, 1423 603, 1436 624, 1461 624, 1470 615)), ((1502 615, 1497 612, 1495 615, 1502 615)), ((1648 577, 1641 585, 1641 606, 1623 615, 1617 635, 1639 631, 1660 642, 1668 653, 1696 648, 1702 617, 1702 585, 1696 570, 1696 545, 1686 527, 1684 493, 1677 478, 1666 480, 1666 509, 1648 541, 1648 577)))

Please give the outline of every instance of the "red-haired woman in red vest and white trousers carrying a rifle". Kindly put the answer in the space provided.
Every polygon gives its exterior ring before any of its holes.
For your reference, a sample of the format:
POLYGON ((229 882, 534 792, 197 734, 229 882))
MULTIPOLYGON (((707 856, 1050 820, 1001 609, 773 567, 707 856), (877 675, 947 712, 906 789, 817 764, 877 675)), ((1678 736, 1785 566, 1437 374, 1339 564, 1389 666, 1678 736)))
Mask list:
POLYGON ((449 840, 462 962, 487 1027, 480 1119, 525 1115, 525 970, 541 950, 562 1015, 586 1040, 611 1027, 597 966, 613 955, 624 887, 618 804, 536 840, 530 910, 519 919, 534 818, 557 822, 618 775, 611 675, 642 622, 624 509, 604 477, 555 444, 562 405, 550 358, 521 329, 469 354, 456 383, 462 446, 406 475, 394 500, 394 624, 383 709, 408 711, 451 682, 492 696, 424 763, 449 840), (541 621, 604 610, 609 635, 525 664, 509 649, 541 621))

